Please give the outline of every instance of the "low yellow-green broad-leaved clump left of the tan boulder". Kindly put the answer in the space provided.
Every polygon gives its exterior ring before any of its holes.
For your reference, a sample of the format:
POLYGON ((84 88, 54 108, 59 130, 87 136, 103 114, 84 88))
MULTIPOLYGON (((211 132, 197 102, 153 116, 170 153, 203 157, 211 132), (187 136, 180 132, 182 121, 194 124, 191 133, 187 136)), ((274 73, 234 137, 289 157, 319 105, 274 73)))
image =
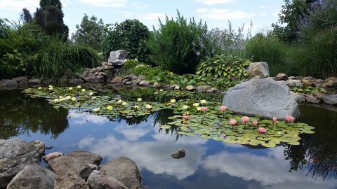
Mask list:
POLYGON ((199 64, 197 75, 228 79, 243 78, 247 74, 245 66, 249 66, 249 64, 251 62, 248 59, 241 59, 232 55, 216 55, 214 58, 207 58, 199 64))

